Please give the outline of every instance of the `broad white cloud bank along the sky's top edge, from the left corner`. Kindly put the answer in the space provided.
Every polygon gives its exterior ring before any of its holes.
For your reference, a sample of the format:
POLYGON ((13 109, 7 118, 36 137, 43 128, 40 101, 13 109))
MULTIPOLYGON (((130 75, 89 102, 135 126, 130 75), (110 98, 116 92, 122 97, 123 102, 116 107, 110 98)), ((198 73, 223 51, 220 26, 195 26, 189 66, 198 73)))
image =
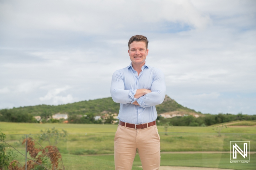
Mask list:
MULTIPOLYGON (((142 23, 161 26, 159 22, 179 22, 195 28, 204 28, 210 22, 210 17, 198 11, 188 0, 76 0, 65 3, 16 1, 12 5, 2 3, 0 11, 4 15, 4 23, 22 29, 69 30, 94 34, 105 34, 111 30, 120 31, 142 23)), ((142 26, 139 29, 145 28, 142 26)))

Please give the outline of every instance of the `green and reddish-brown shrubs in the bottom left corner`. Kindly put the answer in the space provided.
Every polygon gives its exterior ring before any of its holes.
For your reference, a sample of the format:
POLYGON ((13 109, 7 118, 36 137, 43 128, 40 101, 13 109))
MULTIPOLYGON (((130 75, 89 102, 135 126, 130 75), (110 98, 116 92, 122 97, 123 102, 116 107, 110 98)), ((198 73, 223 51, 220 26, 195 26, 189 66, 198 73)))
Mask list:
MULTIPOLYGON (((51 135, 51 134, 48 134, 48 135, 51 135)), ((60 134, 57 134, 57 135, 60 135, 60 134)), ((12 137, 12 140, 14 139, 13 137, 12 137)), ((50 170, 50 169, 64 170, 65 169, 61 159, 61 154, 56 146, 48 145, 46 147, 43 147, 32 137, 25 138, 22 142, 22 145, 24 145, 24 148, 26 148, 27 152, 29 153, 29 156, 27 156, 27 154, 25 155, 19 151, 20 148, 17 149, 15 147, 15 146, 19 147, 17 143, 10 144, 10 141, 5 141, 5 139, 6 139, 6 135, 3 133, 0 133, 0 170, 7 170, 7 169, 8 170, 45 170, 45 169, 46 170, 50 170), (39 148, 35 146, 35 143, 38 144, 39 148), (15 152, 13 152, 12 150, 9 150, 6 154, 5 146, 8 146, 8 148, 13 148, 15 152), (20 159, 16 159, 18 154, 28 159, 25 165, 22 166, 21 163, 19 162, 20 159)), ((44 140, 42 139, 44 139, 44 137, 42 138, 42 135, 41 135, 41 138, 39 137, 39 140, 44 142, 44 140)))

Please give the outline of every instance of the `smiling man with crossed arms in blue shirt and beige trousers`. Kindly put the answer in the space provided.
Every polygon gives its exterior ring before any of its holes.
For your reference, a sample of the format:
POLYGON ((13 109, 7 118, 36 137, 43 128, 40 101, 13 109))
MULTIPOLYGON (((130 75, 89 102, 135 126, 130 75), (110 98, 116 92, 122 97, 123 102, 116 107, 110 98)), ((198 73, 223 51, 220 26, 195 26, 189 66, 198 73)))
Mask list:
POLYGON ((131 170, 138 149, 143 170, 160 166, 160 137, 156 127, 156 105, 164 101, 164 73, 148 66, 148 39, 132 36, 128 42, 131 64, 116 70, 110 93, 120 103, 119 125, 116 131, 116 170, 131 170))

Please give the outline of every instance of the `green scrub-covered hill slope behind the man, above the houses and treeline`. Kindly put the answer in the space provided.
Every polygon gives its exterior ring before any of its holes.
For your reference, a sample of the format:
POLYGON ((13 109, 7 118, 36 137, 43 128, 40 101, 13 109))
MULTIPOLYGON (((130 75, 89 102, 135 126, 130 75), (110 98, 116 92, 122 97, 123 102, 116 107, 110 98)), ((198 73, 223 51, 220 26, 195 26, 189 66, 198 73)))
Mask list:
MULTIPOLYGON (((17 108, 14 107, 12 109, 0 110, 0 115, 3 115, 3 113, 6 112, 28 113, 33 116, 41 115, 46 112, 50 112, 51 114, 67 113, 68 115, 86 115, 88 113, 100 115, 101 113, 118 113, 119 106, 119 103, 115 103, 111 97, 108 97, 103 99, 79 101, 75 103, 58 106, 37 105, 17 108)), ((185 111, 197 113, 195 110, 183 107, 167 95, 165 96, 164 102, 161 105, 156 106, 156 110, 158 114, 172 111, 185 111)))

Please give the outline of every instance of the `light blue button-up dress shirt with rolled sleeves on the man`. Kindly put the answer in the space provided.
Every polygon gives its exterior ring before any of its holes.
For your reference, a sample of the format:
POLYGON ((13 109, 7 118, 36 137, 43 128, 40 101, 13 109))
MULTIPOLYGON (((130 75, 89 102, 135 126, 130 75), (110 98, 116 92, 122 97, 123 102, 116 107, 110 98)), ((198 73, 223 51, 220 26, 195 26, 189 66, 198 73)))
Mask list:
POLYGON ((166 86, 164 73, 145 63, 138 76, 132 63, 112 76, 110 93, 116 103, 120 103, 118 119, 122 122, 141 124, 153 122, 157 118, 156 105, 164 101, 166 86), (137 89, 148 89, 150 93, 134 98, 137 89), (134 101, 140 106, 131 104, 134 101))

